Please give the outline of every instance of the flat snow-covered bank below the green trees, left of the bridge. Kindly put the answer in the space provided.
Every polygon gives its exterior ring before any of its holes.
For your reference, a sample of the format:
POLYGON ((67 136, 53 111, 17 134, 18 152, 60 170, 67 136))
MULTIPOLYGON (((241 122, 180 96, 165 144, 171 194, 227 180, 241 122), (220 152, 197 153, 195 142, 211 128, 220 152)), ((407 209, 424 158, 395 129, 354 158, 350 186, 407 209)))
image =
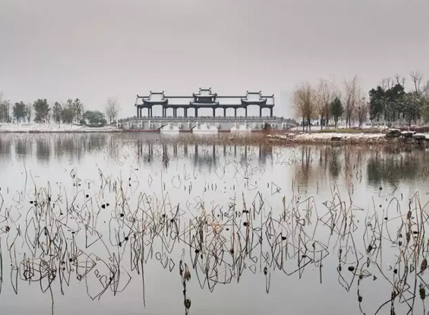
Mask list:
POLYGON ((88 127, 70 124, 0 124, 0 133, 110 133, 116 126, 88 127))

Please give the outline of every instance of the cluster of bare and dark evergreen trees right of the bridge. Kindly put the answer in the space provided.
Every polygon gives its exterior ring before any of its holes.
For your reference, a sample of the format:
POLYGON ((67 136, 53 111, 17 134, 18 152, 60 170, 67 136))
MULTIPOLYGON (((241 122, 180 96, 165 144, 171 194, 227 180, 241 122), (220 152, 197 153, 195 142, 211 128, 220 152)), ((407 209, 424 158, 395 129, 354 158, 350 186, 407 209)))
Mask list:
POLYGON ((318 84, 301 82, 292 95, 292 106, 301 119, 303 131, 311 131, 314 121, 321 129, 334 128, 340 119, 345 128, 363 125, 419 126, 429 122, 429 80, 419 72, 406 77, 387 77, 368 93, 363 92, 358 77, 336 86, 327 79, 318 84))

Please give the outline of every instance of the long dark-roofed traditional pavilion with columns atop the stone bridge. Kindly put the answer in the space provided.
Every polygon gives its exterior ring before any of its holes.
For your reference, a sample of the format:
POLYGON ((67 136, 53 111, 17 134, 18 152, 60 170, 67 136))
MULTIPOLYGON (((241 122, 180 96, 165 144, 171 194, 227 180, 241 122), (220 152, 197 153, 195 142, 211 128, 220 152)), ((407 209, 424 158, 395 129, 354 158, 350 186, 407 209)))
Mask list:
POLYGON ((247 117, 248 106, 259 106, 259 116, 263 116, 263 108, 269 109, 269 117, 273 116, 274 95, 263 96, 261 91, 249 92, 244 96, 220 96, 212 93, 211 88, 200 88, 198 93, 192 93, 192 96, 165 96, 162 92, 150 92, 149 96, 139 96, 135 100, 137 108, 137 117, 143 117, 143 109, 147 109, 146 117, 153 117, 153 106, 162 106, 162 117, 167 117, 166 111, 171 108, 173 117, 178 117, 178 109, 182 108, 184 117, 188 117, 188 111, 193 109, 195 117, 198 117, 199 108, 211 108, 213 117, 216 117, 216 109, 223 108, 223 115, 227 116, 227 108, 234 109, 234 117, 237 117, 237 109, 244 108, 247 117))

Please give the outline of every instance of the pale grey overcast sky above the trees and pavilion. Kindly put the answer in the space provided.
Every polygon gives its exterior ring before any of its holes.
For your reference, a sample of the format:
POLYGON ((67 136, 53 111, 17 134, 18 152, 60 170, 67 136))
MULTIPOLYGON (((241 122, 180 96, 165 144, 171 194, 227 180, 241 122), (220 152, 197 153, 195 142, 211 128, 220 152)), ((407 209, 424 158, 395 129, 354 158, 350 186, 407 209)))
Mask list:
POLYGON ((0 92, 127 117, 150 90, 262 90, 292 117, 302 81, 428 79, 428 23, 428 0, 0 0, 0 92))

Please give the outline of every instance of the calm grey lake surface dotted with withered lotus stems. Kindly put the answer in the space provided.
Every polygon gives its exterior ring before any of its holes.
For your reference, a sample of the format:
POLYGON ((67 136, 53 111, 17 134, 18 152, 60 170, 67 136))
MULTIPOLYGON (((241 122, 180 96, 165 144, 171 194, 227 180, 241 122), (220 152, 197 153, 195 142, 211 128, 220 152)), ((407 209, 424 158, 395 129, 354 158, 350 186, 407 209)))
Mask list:
POLYGON ((424 151, 0 135, 1 314, 426 314, 424 151))

